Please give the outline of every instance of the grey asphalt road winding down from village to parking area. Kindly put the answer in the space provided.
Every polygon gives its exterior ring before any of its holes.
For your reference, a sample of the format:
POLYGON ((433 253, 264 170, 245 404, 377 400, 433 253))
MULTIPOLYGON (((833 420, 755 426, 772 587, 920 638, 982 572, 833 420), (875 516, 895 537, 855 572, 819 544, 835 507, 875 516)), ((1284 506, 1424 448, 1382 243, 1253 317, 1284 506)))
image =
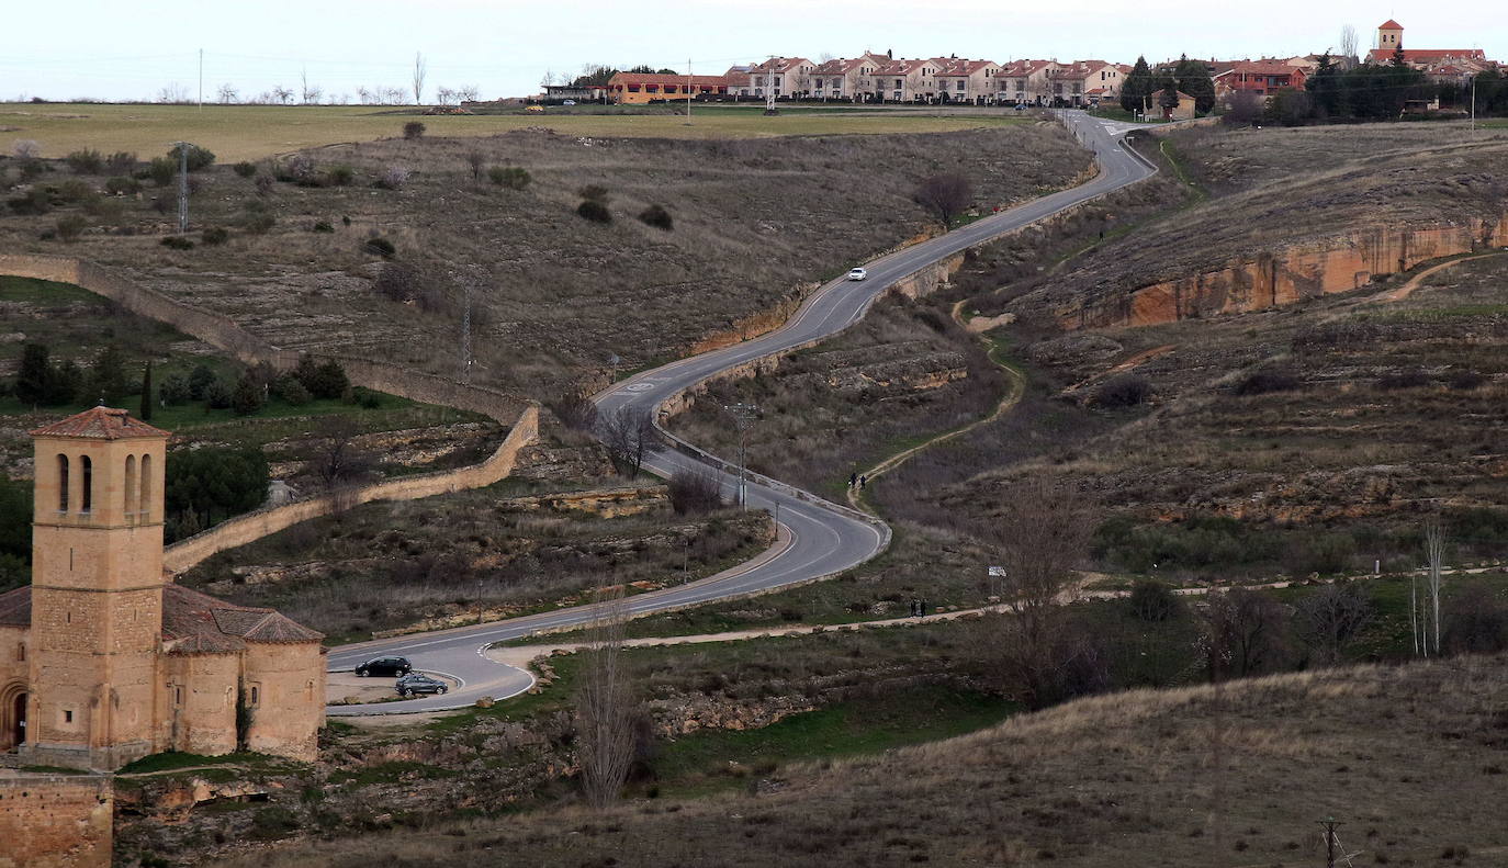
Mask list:
MULTIPOLYGON (((728 368, 841 332, 857 322, 891 283, 974 244, 1119 190, 1155 172, 1152 166, 1122 146, 1122 136, 1134 130, 1136 125, 1090 118, 1083 112, 1068 112, 1065 121, 1080 142, 1095 152, 1099 163, 1099 175, 1087 184, 1033 199, 939 238, 866 262, 867 280, 840 279, 822 286, 781 329, 617 383, 596 396, 599 411, 614 413, 620 407, 654 411, 665 399, 728 368)), ((694 448, 685 443, 682 446, 683 451, 662 449, 651 454, 645 460, 645 466, 662 476, 670 476, 680 469, 710 472, 721 478, 725 490, 733 490, 734 476, 724 470, 725 464, 721 460, 710 455, 694 457, 697 452, 694 448)), ((748 503, 756 509, 778 511, 781 546, 748 564, 709 579, 629 597, 623 601, 623 607, 630 615, 641 615, 829 576, 869 561, 882 552, 890 541, 890 529, 884 523, 772 479, 756 478, 751 481, 748 503)), ((578 606, 493 624, 332 648, 327 660, 332 672, 350 671, 371 657, 403 654, 416 669, 449 675, 460 684, 442 696, 425 696, 404 702, 332 705, 327 713, 330 716, 357 716, 439 711, 472 705, 481 696, 504 698, 522 693, 532 686, 534 677, 489 660, 483 649, 493 642, 519 639, 541 630, 584 625, 593 616, 591 606, 578 606)))

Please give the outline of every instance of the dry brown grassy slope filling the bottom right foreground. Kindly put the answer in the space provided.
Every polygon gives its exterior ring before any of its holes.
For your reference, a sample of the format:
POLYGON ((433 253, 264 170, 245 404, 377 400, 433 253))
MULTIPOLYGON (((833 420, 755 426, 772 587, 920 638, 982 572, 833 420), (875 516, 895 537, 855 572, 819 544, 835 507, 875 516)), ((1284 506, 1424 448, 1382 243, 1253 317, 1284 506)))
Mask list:
POLYGON ((525 814, 223 865, 1497 863, 1502 659, 1133 690, 701 802, 525 814))

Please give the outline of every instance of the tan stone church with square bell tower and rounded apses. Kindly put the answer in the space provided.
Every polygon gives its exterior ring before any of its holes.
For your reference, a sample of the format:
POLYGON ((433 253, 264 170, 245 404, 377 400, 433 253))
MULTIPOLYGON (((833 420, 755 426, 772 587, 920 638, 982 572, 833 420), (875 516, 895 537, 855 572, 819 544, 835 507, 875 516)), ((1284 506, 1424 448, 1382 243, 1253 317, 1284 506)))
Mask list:
POLYGON ((167 437, 109 407, 32 431, 32 585, 0 595, 0 750, 21 764, 315 758, 323 636, 163 571, 167 437))

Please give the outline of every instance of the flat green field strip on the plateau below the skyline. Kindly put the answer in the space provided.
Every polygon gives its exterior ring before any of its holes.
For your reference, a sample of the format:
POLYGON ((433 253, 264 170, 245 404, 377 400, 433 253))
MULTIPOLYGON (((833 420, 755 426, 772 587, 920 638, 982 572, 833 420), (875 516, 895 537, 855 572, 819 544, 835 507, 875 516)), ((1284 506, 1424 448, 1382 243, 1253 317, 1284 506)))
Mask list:
POLYGON ((952 133, 1025 121, 1004 113, 946 115, 938 110, 795 107, 765 118, 759 107, 698 107, 691 125, 664 108, 645 113, 590 115, 582 108, 544 113, 419 116, 415 110, 377 105, 115 105, 93 102, 0 102, 6 149, 30 139, 44 157, 93 148, 106 154, 134 151, 142 157, 166 152, 169 143, 202 145, 222 163, 259 160, 332 145, 371 142, 401 134, 409 121, 422 121, 430 136, 493 136, 523 127, 549 127, 569 136, 636 136, 674 139, 739 139, 763 136, 831 136, 843 133, 952 133), (653 112, 653 113, 650 113, 653 112))

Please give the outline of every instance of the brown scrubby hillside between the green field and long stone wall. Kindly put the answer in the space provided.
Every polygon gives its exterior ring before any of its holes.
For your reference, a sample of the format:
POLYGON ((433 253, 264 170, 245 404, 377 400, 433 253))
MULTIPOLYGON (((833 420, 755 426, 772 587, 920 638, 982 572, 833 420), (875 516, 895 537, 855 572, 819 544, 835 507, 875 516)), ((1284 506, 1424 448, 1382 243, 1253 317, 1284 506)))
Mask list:
POLYGON ((172 185, 101 197, 103 173, 48 163, 35 179, 6 169, 20 205, 0 217, 0 247, 95 259, 277 347, 445 374, 460 363, 469 285, 472 378, 547 398, 582 375, 768 329, 816 282, 929 231, 911 200, 924 176, 961 172, 991 208, 1069 185, 1087 163, 1051 124, 713 142, 546 128, 388 139, 261 163, 250 178, 228 166, 196 173, 193 225, 226 228, 229 240, 207 244, 195 231, 198 246, 181 252, 160 244, 172 185), (495 167, 532 182, 493 184, 495 167), (374 187, 394 170, 407 172, 389 184, 398 188, 374 187), (611 225, 576 215, 588 194, 606 202, 611 225), (668 211, 670 229, 638 219, 650 205, 668 211), (83 219, 77 241, 39 238, 65 217, 83 219), (372 288, 385 264, 372 238, 413 268, 388 295, 372 288))

